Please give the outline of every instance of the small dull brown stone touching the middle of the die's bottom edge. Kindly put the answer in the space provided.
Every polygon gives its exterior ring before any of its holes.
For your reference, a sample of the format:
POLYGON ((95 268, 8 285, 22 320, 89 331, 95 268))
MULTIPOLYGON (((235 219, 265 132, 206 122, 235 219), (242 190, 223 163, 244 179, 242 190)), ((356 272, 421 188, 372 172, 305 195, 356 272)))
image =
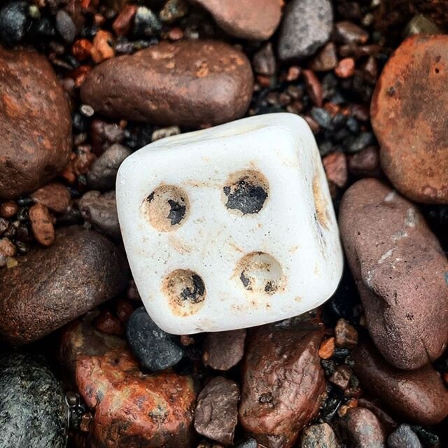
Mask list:
POLYGON ((229 370, 244 355, 246 330, 207 333, 202 344, 202 363, 216 370, 229 370))

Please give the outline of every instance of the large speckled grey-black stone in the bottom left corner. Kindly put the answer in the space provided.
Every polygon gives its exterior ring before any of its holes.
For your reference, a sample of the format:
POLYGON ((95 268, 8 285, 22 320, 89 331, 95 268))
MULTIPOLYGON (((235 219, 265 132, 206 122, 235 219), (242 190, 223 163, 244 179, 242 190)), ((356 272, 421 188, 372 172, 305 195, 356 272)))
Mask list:
POLYGON ((0 448, 65 448, 65 396, 43 358, 0 355, 0 448))

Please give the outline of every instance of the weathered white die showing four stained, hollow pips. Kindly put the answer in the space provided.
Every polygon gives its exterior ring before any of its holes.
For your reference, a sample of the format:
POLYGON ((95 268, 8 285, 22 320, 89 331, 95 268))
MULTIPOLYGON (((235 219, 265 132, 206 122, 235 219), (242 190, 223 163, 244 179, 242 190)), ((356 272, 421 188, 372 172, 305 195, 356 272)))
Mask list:
POLYGON ((302 314, 342 275, 316 142, 290 113, 145 146, 120 167, 117 206, 141 299, 170 333, 302 314))

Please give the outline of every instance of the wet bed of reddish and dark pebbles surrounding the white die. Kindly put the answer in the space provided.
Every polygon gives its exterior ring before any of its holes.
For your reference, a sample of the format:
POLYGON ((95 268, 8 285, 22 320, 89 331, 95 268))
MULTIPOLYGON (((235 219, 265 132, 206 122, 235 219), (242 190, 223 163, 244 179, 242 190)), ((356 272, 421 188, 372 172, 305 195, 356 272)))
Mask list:
POLYGON ((444 0, 2 2, 0 448, 448 447, 447 29, 444 0), (278 111, 318 142, 337 292, 162 332, 123 252, 120 163, 278 111))

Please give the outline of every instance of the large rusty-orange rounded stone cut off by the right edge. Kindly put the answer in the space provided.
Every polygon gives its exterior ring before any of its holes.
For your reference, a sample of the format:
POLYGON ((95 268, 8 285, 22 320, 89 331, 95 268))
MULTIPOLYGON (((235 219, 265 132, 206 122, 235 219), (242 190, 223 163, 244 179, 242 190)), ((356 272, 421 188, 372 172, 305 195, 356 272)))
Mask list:
POLYGON ((448 36, 407 38, 384 67, 371 104, 381 166, 403 195, 448 203, 448 36), (434 99, 437 98, 435 110, 434 99))

